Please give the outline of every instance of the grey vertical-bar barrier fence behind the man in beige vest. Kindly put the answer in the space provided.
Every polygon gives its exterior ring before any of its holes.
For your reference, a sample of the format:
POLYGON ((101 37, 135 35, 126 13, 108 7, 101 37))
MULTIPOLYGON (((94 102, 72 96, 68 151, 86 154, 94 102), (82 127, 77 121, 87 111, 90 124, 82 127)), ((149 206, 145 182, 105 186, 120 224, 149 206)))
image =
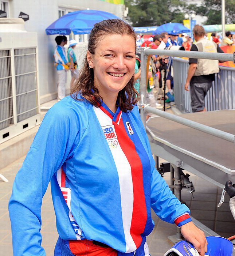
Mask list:
MULTIPOLYGON (((184 90, 188 60, 173 58, 175 105, 182 113, 191 113, 190 92, 184 90)), ((215 82, 205 97, 208 111, 235 108, 235 68, 220 66, 215 82)))

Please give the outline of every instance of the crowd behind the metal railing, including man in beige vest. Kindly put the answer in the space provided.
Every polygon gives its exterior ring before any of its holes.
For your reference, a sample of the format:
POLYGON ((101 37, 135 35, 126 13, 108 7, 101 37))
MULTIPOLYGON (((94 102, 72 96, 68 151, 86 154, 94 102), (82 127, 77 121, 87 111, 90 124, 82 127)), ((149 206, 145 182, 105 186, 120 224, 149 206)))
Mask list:
MULTIPOLYGON (((231 34, 230 31, 226 32, 223 39, 221 39, 220 35, 216 35, 216 33, 212 33, 211 38, 208 39, 208 34, 205 32, 204 28, 196 25, 192 34, 193 38, 189 37, 186 33, 168 34, 167 32, 146 37, 147 39, 144 39, 144 36, 139 36, 137 38, 137 46, 145 46, 161 50, 169 49, 171 46, 183 46, 185 50, 223 53, 220 46, 231 46, 235 44, 235 34, 231 34)), ((157 91, 157 93, 155 93, 155 97, 153 97, 148 83, 146 101, 150 106, 155 107, 156 105, 158 107, 160 104, 157 103, 157 100, 161 98, 159 97, 159 94, 160 91, 162 91, 162 84, 166 87, 166 102, 175 100, 173 91, 173 68, 171 65, 171 58, 169 61, 168 56, 153 55, 150 60, 149 65, 152 72, 148 74, 148 77, 153 77, 154 88, 152 89, 157 91)), ((193 112, 205 111, 204 98, 207 91, 211 88, 212 82, 215 80, 215 74, 219 72, 219 62, 223 61, 189 59, 189 71, 184 87, 185 90, 189 91, 190 83, 191 106, 193 112)), ((140 70, 137 71, 139 72, 140 70)), ((148 117, 149 115, 147 115, 146 118, 148 117)))

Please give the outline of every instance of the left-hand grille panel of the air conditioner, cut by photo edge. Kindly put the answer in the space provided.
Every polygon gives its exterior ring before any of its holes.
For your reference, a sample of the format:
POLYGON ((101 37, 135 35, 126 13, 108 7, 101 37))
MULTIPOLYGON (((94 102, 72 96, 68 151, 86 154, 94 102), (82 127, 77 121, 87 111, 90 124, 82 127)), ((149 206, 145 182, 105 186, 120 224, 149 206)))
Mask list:
POLYGON ((13 124, 11 52, 0 50, 0 130, 13 124))

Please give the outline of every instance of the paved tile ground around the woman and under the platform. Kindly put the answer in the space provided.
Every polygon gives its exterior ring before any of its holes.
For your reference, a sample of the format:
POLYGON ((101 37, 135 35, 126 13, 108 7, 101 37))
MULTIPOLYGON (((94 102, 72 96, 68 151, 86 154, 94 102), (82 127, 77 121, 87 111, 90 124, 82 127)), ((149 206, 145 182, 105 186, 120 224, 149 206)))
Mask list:
MULTIPOLYGON (((170 109, 167 111, 171 113, 170 109)), ((4 256, 13 255, 11 227, 7 208, 12 183, 23 160, 24 157, 1 169, 1 174, 9 180, 9 182, 0 180, 0 255, 4 256)), ((161 159, 161 161, 164 160, 161 159)), ((169 184, 169 173, 165 173, 164 178, 169 184)), ((228 196, 222 207, 217 208, 216 206, 219 202, 222 189, 193 174, 189 178, 193 182, 196 192, 194 193, 194 198, 192 198, 191 194, 183 190, 182 200, 191 209, 192 217, 214 230, 220 236, 228 237, 234 234, 235 222, 229 210, 228 196)), ((177 227, 161 221, 154 213, 152 217, 155 227, 147 239, 149 250, 152 256, 162 256, 173 245, 168 237, 176 234, 177 227)), ((46 255, 53 255, 54 245, 58 235, 49 187, 43 198, 41 232, 43 237, 42 245, 46 250, 46 255)))

